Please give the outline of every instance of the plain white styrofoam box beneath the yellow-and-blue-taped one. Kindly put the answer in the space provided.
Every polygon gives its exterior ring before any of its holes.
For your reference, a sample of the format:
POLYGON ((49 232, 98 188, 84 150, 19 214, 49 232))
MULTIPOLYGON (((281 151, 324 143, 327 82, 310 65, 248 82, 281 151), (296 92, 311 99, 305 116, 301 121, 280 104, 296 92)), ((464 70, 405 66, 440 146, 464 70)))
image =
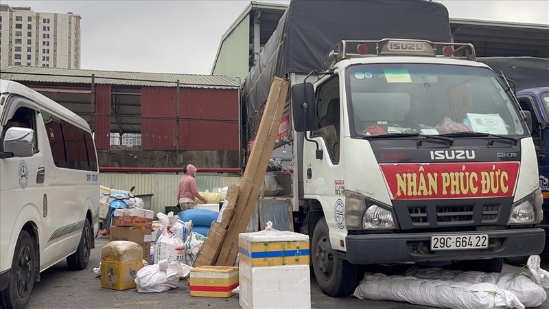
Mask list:
POLYGON ((239 268, 239 302, 248 308, 311 308, 309 265, 239 268))

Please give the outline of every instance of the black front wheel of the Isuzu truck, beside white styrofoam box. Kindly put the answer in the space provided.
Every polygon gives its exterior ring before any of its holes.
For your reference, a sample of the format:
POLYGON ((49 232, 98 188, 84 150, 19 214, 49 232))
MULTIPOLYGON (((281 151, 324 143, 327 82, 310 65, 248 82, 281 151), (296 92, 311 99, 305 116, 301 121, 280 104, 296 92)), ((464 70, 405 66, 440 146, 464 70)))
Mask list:
POLYGON ((351 295, 356 285, 358 266, 334 255, 325 218, 316 222, 311 249, 314 277, 320 289, 331 297, 351 295))

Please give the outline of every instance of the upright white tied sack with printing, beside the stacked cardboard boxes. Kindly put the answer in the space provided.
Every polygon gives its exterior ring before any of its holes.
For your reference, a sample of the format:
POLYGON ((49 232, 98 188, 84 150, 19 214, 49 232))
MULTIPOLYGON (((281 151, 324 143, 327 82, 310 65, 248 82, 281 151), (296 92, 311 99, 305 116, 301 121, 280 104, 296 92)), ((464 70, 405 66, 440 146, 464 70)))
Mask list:
POLYGON ((161 216, 161 213, 156 216, 166 228, 154 244, 154 264, 161 260, 185 262, 185 243, 172 231, 172 227, 177 222, 177 216, 174 216, 171 211, 165 216, 161 216))

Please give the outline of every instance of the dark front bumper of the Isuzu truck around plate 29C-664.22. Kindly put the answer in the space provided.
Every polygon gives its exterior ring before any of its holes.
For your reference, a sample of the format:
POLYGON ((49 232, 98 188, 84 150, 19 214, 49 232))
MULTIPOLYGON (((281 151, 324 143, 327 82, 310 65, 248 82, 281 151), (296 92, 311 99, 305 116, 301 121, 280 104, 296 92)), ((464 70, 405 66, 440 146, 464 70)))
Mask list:
POLYGON ((430 249, 431 236, 441 235, 441 233, 348 235, 345 238, 346 258, 353 264, 434 262, 537 255, 544 250, 545 231, 538 228, 445 234, 478 233, 488 234, 488 249, 432 251, 430 249))

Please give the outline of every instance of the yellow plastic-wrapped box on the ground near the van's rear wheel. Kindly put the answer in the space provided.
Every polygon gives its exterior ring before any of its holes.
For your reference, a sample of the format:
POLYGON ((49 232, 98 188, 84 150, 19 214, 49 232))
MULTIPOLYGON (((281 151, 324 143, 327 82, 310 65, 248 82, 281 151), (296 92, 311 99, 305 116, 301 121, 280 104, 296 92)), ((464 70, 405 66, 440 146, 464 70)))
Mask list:
POLYGON ((135 288, 135 277, 143 267, 143 249, 129 241, 113 241, 101 249, 101 287, 113 290, 135 288))

